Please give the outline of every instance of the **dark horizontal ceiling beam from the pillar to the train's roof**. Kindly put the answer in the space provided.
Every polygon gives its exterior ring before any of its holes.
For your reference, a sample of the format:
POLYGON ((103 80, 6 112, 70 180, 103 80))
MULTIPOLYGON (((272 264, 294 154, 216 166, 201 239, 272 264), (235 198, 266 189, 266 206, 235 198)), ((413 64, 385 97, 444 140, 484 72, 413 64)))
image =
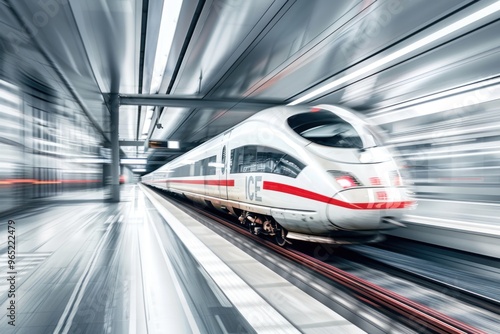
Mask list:
POLYGON ((253 99, 214 99, 168 94, 120 94, 120 105, 143 105, 178 108, 244 109, 262 110, 278 105, 283 101, 253 99))

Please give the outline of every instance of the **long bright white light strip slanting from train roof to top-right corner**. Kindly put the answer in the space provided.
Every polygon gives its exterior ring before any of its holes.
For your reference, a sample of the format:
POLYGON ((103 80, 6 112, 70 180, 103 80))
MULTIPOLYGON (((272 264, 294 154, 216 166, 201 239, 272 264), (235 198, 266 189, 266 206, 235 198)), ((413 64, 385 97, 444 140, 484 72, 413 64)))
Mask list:
POLYGON ((493 13, 496 13, 497 11, 500 10, 500 1, 497 1, 487 7, 484 7, 483 9, 480 9, 478 10, 477 12, 475 13, 472 13, 471 15, 463 18, 463 19, 460 19, 458 21, 456 21, 455 23, 452 23, 446 27, 444 27, 443 29, 440 29, 438 31, 436 31, 435 33, 432 33, 422 39, 419 39, 418 41, 398 50, 398 51, 395 51, 377 61, 374 61, 373 63, 369 64, 368 66, 365 66, 363 68, 360 68, 359 70, 357 71, 354 71, 350 74, 347 74, 345 76, 343 76, 342 78, 339 78, 337 80, 334 80, 318 89, 315 89, 314 91, 312 91, 311 93, 309 94, 306 94, 292 102, 290 102, 288 105, 290 106, 293 106, 293 105, 296 105, 296 104, 299 104, 299 103, 303 103, 307 100, 310 100, 314 97, 317 97, 318 95, 324 93, 324 92, 327 92, 331 89, 333 89, 334 87, 337 87, 339 85, 342 85, 350 80, 353 80, 354 78, 356 77, 359 77, 367 72, 370 72, 378 67, 381 67, 391 61, 394 61, 398 58, 401 58, 407 54, 409 54, 410 52, 413 52, 415 50, 418 50, 440 38, 443 38, 459 29, 462 29, 462 28, 465 28, 466 26, 482 19, 482 18, 485 18, 486 16, 489 16, 493 13))

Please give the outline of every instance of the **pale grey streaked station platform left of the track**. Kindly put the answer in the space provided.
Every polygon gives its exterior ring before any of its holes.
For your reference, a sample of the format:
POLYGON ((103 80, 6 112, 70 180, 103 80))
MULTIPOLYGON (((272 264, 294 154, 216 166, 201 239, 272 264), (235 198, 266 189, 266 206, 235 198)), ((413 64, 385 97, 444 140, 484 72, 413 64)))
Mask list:
POLYGON ((15 326, 2 312, 1 333, 363 333, 150 189, 104 198, 94 190, 2 217, 0 305, 14 301, 15 326))

